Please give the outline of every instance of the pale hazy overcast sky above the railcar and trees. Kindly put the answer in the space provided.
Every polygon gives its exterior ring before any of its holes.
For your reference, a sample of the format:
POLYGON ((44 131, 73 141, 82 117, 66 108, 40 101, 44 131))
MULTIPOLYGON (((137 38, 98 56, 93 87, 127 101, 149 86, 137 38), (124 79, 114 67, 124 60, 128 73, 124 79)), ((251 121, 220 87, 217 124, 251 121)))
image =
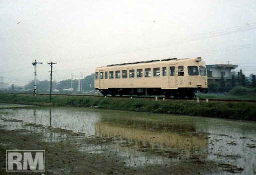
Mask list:
POLYGON ((255 0, 1 0, 0 76, 25 85, 79 79, 96 67, 202 57, 256 73, 255 0))

